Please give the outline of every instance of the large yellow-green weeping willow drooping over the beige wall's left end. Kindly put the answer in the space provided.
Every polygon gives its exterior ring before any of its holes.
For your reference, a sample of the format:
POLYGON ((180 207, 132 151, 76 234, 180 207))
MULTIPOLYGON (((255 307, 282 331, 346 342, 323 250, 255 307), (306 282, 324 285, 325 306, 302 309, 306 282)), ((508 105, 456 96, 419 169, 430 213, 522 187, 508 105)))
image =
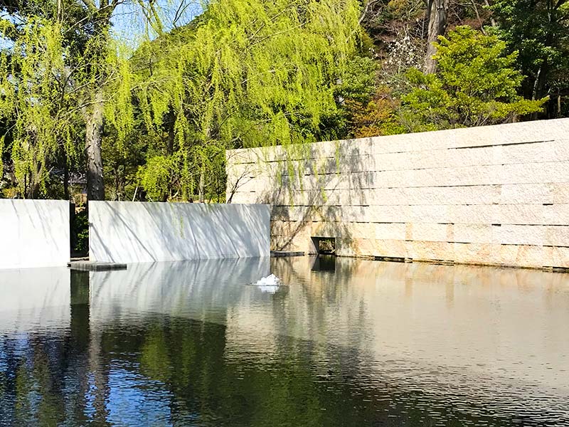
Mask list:
MULTIPOLYGON (((116 92, 134 95, 144 132, 161 144, 139 173, 151 199, 203 201, 225 149, 321 136, 356 55, 359 14, 356 0, 213 1, 191 25, 139 48, 116 92)), ((134 116, 112 105, 123 144, 134 116)))

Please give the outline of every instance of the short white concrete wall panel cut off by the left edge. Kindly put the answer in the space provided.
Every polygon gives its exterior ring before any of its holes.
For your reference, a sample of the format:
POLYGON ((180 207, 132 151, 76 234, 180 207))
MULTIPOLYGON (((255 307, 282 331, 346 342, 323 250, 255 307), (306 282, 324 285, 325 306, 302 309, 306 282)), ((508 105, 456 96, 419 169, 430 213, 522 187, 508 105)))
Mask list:
POLYGON ((69 202, 0 199, 0 268, 67 265, 69 202))

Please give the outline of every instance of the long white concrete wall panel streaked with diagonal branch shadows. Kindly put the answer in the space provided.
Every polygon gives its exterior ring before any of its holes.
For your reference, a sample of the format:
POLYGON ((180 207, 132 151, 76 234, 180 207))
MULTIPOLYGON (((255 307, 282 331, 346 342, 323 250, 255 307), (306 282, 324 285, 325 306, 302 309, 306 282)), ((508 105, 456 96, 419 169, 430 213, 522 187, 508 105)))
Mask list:
POLYGON ((90 259, 149 263, 270 255, 270 206, 89 202, 90 259))

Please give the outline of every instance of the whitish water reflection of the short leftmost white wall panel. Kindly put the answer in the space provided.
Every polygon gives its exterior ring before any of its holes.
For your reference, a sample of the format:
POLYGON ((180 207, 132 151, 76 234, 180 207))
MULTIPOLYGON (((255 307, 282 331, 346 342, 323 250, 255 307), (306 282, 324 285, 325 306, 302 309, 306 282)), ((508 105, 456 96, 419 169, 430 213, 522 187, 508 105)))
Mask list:
POLYGON ((65 328, 70 320, 70 277, 65 267, 0 273, 0 333, 65 328))

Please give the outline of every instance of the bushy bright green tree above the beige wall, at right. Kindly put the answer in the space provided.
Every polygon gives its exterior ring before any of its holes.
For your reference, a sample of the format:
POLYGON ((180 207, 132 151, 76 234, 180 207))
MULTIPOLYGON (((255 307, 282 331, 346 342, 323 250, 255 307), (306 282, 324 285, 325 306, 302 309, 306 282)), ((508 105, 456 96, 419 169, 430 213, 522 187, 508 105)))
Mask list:
POLYGON ((546 99, 517 94, 523 76, 506 43, 468 26, 450 31, 437 43, 437 73, 408 72, 411 85, 403 96, 413 130, 491 125, 541 110, 546 99))

